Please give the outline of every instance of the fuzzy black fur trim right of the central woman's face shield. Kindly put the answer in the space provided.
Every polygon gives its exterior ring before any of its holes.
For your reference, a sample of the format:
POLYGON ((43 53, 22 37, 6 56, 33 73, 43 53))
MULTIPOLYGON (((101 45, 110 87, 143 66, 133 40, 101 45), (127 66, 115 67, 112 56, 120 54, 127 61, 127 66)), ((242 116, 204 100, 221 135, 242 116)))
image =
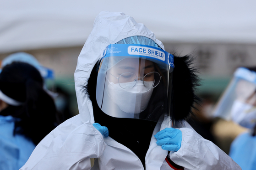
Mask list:
POLYGON ((197 87, 200 86, 198 70, 192 67, 195 57, 186 55, 179 57, 174 53, 173 90, 174 115, 176 120, 189 118, 195 103, 200 104, 201 99, 196 96, 197 87))

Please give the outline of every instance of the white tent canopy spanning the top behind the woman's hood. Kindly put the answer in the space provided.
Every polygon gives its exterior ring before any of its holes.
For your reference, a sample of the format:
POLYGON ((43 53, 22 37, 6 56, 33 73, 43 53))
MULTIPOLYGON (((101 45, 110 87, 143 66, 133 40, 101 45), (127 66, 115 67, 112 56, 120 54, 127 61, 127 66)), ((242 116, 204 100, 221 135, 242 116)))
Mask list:
POLYGON ((254 0, 0 0, 0 53, 82 46, 100 11, 144 23, 164 42, 256 43, 254 0))

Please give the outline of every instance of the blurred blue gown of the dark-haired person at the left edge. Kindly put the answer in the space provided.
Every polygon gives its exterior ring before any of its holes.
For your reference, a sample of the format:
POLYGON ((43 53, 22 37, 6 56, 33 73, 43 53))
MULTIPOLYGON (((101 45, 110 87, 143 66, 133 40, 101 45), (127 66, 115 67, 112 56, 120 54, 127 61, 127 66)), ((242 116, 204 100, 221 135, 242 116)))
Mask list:
POLYGON ((15 118, 0 115, 0 170, 19 170, 35 149, 31 139, 13 136, 15 118))

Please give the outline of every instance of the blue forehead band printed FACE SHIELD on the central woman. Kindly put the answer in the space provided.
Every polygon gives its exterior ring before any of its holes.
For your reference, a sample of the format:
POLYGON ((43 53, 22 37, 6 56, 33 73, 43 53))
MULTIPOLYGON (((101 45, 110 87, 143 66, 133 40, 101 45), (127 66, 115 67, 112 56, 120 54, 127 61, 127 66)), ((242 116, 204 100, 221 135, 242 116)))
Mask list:
POLYGON ((173 55, 153 46, 138 44, 110 44, 106 47, 102 57, 145 57, 148 60, 165 63, 174 68, 173 55))

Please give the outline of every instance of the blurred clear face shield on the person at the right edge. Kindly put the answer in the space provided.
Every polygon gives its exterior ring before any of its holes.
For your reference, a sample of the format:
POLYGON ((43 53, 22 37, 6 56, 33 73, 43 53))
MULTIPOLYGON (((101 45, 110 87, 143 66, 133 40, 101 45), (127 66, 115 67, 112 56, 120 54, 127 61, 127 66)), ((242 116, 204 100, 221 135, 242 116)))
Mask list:
POLYGON ((256 124, 256 72, 238 68, 213 112, 215 117, 253 127, 256 124))

